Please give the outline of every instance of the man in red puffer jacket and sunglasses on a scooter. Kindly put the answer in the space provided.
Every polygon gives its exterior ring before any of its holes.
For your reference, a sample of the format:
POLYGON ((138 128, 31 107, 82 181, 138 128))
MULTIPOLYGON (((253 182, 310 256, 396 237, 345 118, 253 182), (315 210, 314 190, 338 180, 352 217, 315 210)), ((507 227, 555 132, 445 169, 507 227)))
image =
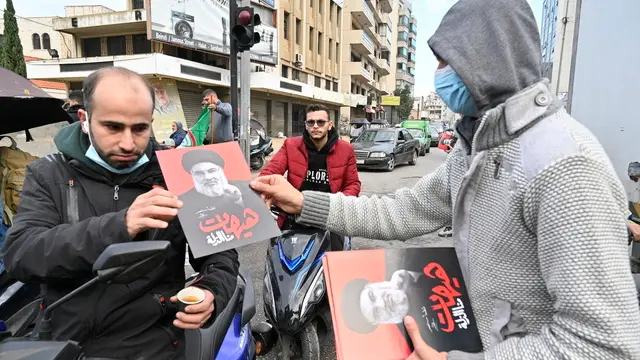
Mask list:
MULTIPOLYGON (((306 131, 284 141, 263 175, 284 175, 296 189, 360 195, 356 157, 350 143, 340 140, 324 105, 307 107, 306 131)), ((278 219, 282 225, 284 217, 278 219)))

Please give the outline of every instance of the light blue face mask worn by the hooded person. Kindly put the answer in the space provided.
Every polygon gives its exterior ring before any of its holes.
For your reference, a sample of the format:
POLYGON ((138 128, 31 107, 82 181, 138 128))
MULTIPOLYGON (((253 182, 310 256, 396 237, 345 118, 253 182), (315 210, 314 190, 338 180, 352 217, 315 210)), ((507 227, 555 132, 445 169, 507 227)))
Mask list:
POLYGON ((466 116, 474 116, 478 113, 469 88, 450 65, 436 70, 434 80, 436 93, 451 111, 466 116))

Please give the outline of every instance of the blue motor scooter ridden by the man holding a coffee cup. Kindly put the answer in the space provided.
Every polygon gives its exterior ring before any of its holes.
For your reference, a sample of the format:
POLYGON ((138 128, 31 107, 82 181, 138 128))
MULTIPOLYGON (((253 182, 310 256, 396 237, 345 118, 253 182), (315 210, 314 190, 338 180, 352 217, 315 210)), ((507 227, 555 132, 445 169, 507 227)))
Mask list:
MULTIPOLYGON (((95 277, 92 280, 45 309, 39 325, 38 340, 28 338, 30 334, 25 331, 15 333, 13 330, 28 328, 31 325, 33 320, 29 321, 28 318, 34 312, 37 315, 39 299, 31 301, 6 322, 0 321, 0 354, 8 355, 8 358, 15 360, 90 360, 74 341, 51 341, 51 311, 95 284, 132 282, 160 266, 166 260, 169 247, 168 241, 138 241, 110 245, 94 263, 95 277), (31 306, 34 303, 38 306, 31 306)), ((198 274, 194 274, 190 280, 195 280, 197 276, 198 274)), ((253 282, 249 273, 240 268, 236 290, 227 307, 216 316, 214 323, 206 329, 185 330, 186 359, 255 359, 264 348, 263 343, 269 340, 268 334, 272 331, 266 323, 259 324, 257 330, 250 329, 249 323, 254 314, 253 282), (267 334, 267 337, 263 334, 267 334)))

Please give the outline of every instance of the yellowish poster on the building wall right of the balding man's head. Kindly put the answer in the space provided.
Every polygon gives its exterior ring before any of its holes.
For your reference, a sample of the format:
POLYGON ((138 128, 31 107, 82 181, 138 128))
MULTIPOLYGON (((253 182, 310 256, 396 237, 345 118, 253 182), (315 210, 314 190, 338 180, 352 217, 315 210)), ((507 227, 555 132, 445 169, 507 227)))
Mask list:
POLYGON ((156 99, 156 106, 153 110, 153 136, 157 142, 162 143, 173 133, 171 124, 174 121, 182 122, 185 130, 187 123, 184 120, 180 95, 178 95, 178 87, 175 80, 150 79, 149 81, 153 86, 156 99))

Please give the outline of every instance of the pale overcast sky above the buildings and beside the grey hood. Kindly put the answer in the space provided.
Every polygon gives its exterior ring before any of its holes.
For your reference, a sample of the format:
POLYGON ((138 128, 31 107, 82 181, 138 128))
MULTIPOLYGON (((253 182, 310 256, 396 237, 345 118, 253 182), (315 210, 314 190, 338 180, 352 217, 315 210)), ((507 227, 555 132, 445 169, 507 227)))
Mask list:
MULTIPOLYGON (((433 91, 433 72, 437 62, 429 50, 427 40, 436 30, 444 14, 457 0, 413 0, 413 13, 418 20, 418 45, 415 95, 425 96, 433 91)), ((540 25, 543 0, 527 0, 540 25)), ((4 1, 0 0, 4 7, 4 1)), ((125 10, 127 0, 14 0, 19 16, 64 16, 65 5, 104 5, 113 10, 125 10)))

